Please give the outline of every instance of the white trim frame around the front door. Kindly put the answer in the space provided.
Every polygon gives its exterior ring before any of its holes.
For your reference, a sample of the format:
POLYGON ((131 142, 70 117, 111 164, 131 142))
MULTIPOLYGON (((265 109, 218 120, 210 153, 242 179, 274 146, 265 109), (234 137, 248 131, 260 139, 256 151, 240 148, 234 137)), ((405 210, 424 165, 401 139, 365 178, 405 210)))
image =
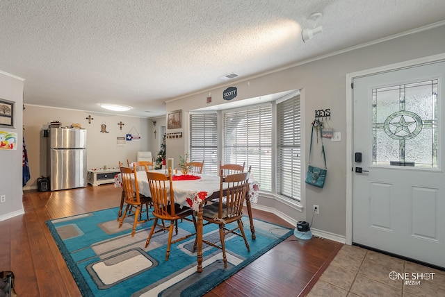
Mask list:
POLYGON ((445 53, 346 74, 346 244, 353 244, 353 79, 441 60, 445 53))

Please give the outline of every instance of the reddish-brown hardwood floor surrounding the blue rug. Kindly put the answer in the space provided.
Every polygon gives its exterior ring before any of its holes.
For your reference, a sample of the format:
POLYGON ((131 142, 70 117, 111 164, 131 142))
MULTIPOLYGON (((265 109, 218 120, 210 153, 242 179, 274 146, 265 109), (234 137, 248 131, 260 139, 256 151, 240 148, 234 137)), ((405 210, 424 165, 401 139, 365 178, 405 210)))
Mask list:
MULTIPOLYGON (((25 192, 24 215, 0 221, 0 271, 15 273, 17 296, 81 296, 46 221, 118 206, 114 185, 25 192)), ((254 217, 289 226, 275 214, 254 217)), ((289 237, 205 296, 305 296, 343 244, 289 237)))

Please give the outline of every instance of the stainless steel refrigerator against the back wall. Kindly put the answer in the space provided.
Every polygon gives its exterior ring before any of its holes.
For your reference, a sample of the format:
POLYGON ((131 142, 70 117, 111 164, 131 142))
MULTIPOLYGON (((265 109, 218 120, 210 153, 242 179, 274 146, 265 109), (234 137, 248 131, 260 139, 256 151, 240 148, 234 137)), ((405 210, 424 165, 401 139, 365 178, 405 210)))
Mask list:
POLYGON ((86 129, 49 128, 47 161, 51 191, 86 187, 86 129))

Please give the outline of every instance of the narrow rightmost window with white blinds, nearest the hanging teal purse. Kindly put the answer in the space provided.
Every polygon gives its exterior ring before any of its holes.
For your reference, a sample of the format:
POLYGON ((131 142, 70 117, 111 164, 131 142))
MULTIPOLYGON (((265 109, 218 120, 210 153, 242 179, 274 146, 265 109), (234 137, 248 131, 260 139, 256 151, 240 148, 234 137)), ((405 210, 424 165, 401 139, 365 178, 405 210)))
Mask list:
POLYGON ((300 95, 277 103, 277 194, 300 201, 300 95))

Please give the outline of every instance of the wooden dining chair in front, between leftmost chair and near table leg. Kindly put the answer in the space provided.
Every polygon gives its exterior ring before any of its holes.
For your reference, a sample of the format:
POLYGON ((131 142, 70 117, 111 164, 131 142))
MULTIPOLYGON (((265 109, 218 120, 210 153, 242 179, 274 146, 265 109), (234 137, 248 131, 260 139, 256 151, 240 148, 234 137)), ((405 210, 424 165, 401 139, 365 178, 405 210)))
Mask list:
MULTIPOLYGON (((193 221, 196 231, 196 219, 195 216, 193 216, 193 210, 190 207, 181 207, 181 205, 175 203, 171 169, 168 170, 168 176, 164 173, 147 171, 147 180, 152 194, 154 223, 147 241, 145 242, 145 248, 149 245, 150 239, 152 239, 154 233, 168 231, 168 244, 167 251, 165 252, 165 261, 168 261, 168 257, 170 256, 170 246, 172 244, 196 235, 195 232, 172 241, 173 229, 175 226, 176 235, 178 234, 178 220, 184 219, 186 221, 193 221), (189 219, 188 216, 192 216, 192 219, 189 219), (163 225, 158 224, 159 219, 163 221, 163 225), (165 221, 170 221, 170 225, 165 226, 165 221), (159 230, 155 232, 154 230, 156 228, 159 228, 159 230)), ((196 240, 194 246, 196 246, 196 240)))

